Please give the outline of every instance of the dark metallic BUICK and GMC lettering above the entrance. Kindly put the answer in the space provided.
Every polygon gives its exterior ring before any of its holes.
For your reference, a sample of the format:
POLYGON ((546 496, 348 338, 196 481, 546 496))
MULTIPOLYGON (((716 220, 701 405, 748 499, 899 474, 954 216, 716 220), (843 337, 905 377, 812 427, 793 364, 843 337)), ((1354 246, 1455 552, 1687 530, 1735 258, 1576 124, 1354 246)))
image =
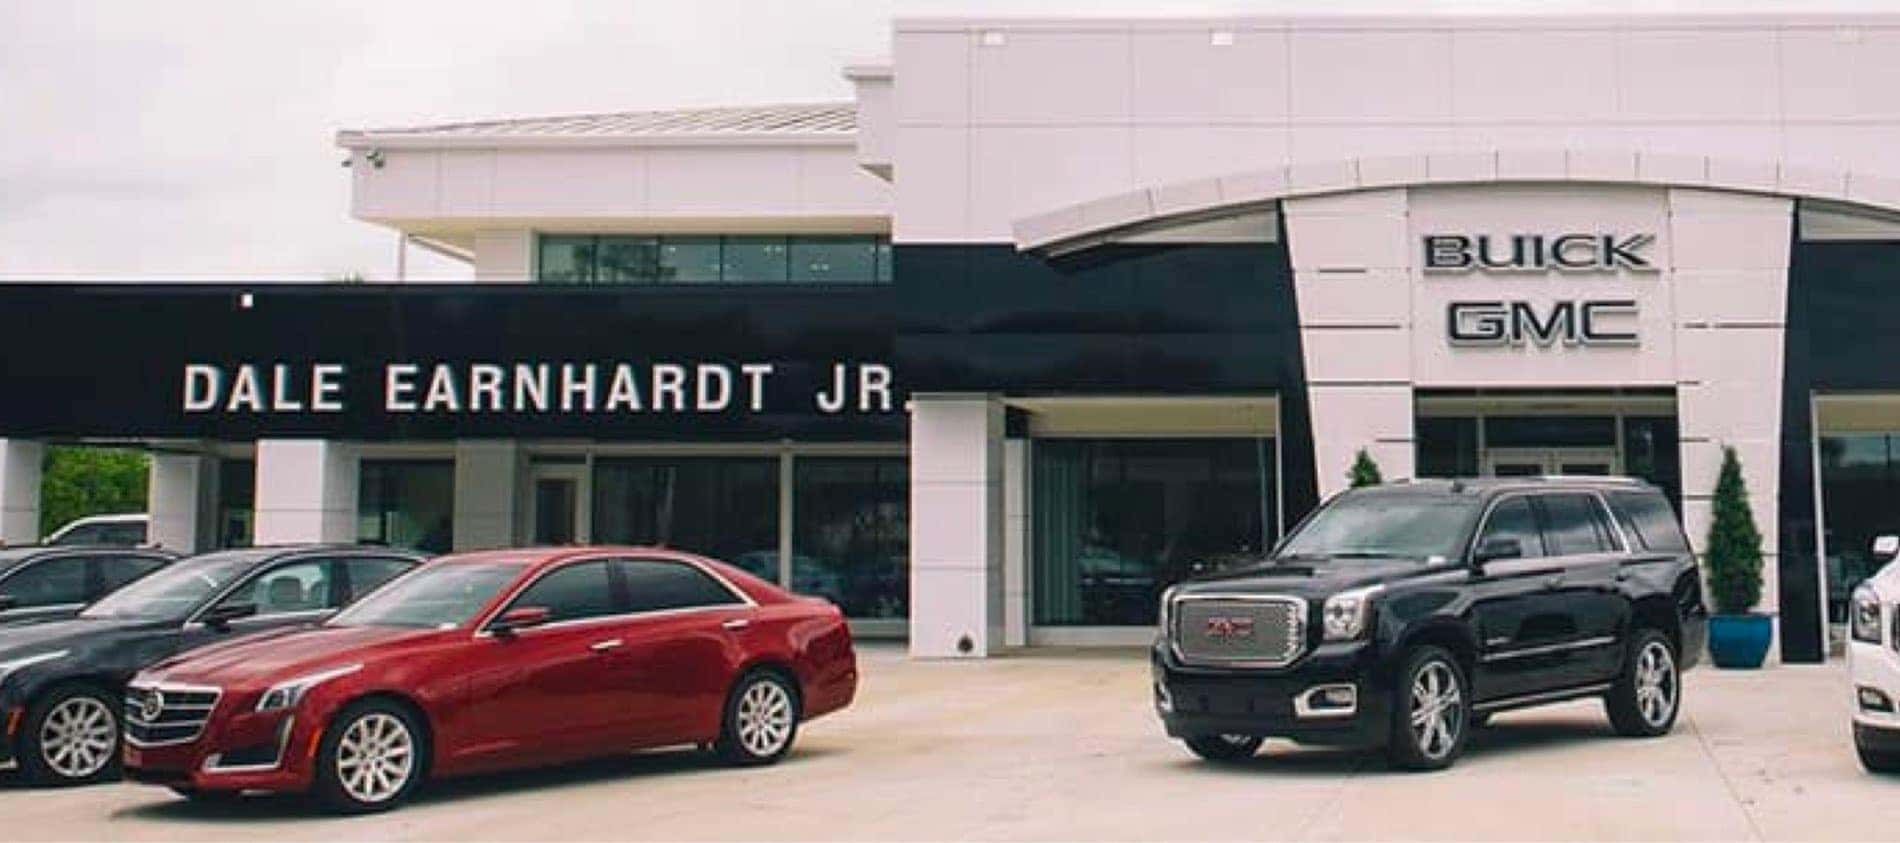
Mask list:
MULTIPOLYGON (((1647 249, 1655 234, 1427 234, 1427 273, 1657 273, 1647 249)), ((1634 298, 1452 302, 1446 334, 1465 347, 1638 346, 1634 298)))

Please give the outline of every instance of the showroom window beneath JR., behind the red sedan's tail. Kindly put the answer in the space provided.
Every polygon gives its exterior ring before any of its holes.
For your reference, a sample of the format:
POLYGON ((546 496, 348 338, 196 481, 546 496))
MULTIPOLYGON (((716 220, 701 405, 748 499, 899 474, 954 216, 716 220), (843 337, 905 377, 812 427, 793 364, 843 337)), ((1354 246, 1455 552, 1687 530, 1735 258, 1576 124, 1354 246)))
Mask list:
POLYGON ((792 478, 792 590, 846 617, 908 617, 910 461, 798 458, 792 478))

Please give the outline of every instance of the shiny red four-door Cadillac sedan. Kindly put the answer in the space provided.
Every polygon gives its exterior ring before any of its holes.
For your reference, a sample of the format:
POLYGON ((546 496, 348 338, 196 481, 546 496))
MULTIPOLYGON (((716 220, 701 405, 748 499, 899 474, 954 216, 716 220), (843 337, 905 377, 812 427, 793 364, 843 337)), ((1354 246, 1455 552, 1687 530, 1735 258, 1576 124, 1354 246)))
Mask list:
POLYGON ((194 799, 310 792, 346 813, 428 777, 701 744, 773 763, 857 693, 836 606, 648 547, 443 556, 321 627, 133 678, 125 773, 194 799))

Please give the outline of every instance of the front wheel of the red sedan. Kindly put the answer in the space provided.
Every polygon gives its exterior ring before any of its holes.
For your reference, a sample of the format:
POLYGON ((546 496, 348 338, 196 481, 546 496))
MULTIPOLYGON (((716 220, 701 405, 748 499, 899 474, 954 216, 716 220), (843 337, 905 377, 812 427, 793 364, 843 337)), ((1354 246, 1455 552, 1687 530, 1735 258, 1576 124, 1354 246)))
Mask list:
POLYGON ((323 731, 312 794, 342 815, 390 811, 422 784, 428 759, 428 731, 408 706, 353 702, 323 731))

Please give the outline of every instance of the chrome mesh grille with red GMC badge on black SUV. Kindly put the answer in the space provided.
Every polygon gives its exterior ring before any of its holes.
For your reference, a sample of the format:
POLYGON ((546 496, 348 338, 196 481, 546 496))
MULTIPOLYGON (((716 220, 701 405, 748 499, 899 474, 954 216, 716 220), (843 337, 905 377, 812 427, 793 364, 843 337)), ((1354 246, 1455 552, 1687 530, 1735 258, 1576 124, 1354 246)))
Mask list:
POLYGON ((1305 600, 1294 596, 1174 598, 1174 655, 1188 665, 1284 666, 1305 653, 1305 600))

